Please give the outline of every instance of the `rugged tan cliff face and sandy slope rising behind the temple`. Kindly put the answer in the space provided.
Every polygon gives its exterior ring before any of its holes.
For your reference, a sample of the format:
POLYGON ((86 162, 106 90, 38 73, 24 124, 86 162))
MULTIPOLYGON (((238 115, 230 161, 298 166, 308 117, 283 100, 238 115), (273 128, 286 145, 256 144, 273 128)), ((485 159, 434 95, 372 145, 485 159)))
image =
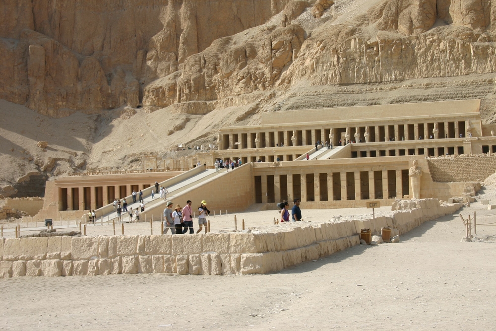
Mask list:
POLYGON ((3 0, 0 21, 0 106, 36 112, 0 109, 4 196, 269 110, 481 98, 496 121, 491 0, 3 0))

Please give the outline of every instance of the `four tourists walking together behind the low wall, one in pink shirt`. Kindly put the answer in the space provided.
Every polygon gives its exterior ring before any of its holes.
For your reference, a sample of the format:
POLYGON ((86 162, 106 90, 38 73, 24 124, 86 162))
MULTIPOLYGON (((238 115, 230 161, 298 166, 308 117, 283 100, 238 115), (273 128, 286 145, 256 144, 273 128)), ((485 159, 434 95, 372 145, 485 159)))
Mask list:
MULTIPOLYGON (((176 207, 173 209, 173 205, 174 203, 172 201, 167 201, 167 208, 164 209, 164 234, 167 234, 169 229, 171 229, 171 234, 185 234, 188 231, 190 234, 193 234, 191 200, 187 200, 183 208, 181 208, 181 205, 176 204, 176 207)), ((207 209, 207 202, 205 200, 201 201, 198 207, 199 229, 196 233, 200 233, 203 228, 205 228, 205 233, 207 233, 207 216, 209 214, 210 210, 207 209)))

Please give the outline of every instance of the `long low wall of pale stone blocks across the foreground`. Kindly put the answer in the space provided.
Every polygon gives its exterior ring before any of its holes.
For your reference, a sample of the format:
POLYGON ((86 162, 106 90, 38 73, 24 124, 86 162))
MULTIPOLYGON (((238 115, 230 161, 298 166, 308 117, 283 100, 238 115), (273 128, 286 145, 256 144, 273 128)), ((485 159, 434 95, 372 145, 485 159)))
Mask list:
POLYGON ((397 202, 392 217, 302 224, 269 233, 0 239, 0 277, 117 273, 250 274, 278 271, 359 244, 361 229, 402 234, 462 206, 397 202))

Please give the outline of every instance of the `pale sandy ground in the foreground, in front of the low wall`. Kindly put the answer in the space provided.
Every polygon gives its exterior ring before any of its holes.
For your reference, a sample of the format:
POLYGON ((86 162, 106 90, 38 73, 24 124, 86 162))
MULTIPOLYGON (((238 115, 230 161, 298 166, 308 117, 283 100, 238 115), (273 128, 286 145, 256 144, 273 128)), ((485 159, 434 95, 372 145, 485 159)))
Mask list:
POLYGON ((494 330, 495 243, 463 235, 454 214, 272 274, 0 279, 0 330, 494 330))

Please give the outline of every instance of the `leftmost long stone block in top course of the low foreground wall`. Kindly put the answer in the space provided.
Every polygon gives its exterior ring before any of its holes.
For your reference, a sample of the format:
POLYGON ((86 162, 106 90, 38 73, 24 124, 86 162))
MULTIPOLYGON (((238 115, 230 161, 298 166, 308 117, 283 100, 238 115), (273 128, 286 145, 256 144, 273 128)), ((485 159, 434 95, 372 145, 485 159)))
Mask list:
POLYGON ((3 245, 3 260, 45 260, 47 245, 48 237, 6 239, 3 245))

